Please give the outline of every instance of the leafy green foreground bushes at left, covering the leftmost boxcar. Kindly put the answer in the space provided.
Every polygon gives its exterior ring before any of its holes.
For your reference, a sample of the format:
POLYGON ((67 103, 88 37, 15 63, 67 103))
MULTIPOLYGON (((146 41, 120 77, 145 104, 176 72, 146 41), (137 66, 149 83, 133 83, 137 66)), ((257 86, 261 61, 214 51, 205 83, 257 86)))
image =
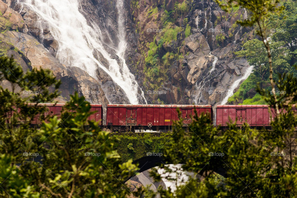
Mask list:
POLYGON ((140 196, 140 189, 132 193, 123 186, 136 165, 122 163, 109 133, 88 120, 94 112, 84 97, 70 96, 60 118, 48 115, 44 122, 45 107, 27 104, 52 102, 60 82, 48 70, 23 73, 12 58, 0 57, 0 63, 0 81, 10 82, 12 90, 0 87, 1 197, 140 196), (40 129, 30 127, 35 118, 40 129))

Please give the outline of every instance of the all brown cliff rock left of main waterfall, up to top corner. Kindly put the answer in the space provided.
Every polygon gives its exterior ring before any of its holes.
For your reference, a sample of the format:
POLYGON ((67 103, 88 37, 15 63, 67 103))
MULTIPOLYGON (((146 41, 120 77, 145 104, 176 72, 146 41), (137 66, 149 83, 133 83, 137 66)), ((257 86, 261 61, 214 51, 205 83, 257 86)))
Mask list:
MULTIPOLYGON (((11 3, 9 4, 13 5, 11 3)), ((58 59, 53 56, 54 53, 51 53, 51 50, 49 50, 52 45, 43 45, 38 41, 38 38, 40 38, 38 35, 40 35, 40 33, 37 32, 40 31, 39 29, 32 29, 34 28, 32 24, 35 24, 32 21, 33 18, 36 17, 36 14, 24 14, 24 16, 26 16, 24 17, 18 12, 13 11, 2 1, 0 1, 0 11, 1 13, 4 13, 4 17, 6 15, 11 16, 9 17, 9 20, 13 24, 12 30, 18 30, 8 31, 5 33, 5 37, 8 38, 8 41, 11 44, 11 49, 8 50, 7 54, 13 55, 17 62, 21 64, 24 71, 27 71, 28 69, 32 70, 32 68, 44 68, 51 70, 54 76, 56 76, 58 80, 62 81, 60 88, 61 97, 57 98, 57 101, 64 103, 69 99, 70 94, 77 91, 80 95, 84 95, 86 100, 92 103, 108 103, 103 90, 100 86, 98 86, 99 82, 97 80, 93 79, 84 70, 78 67, 70 68, 62 65, 58 59), (30 20, 27 24, 29 18, 30 20), (29 32, 34 32, 34 34, 30 35, 29 32), (46 49, 45 46, 48 47, 48 49, 46 49)), ((50 32, 45 30, 45 28, 44 31, 47 32, 45 33, 45 37, 52 37, 50 32)), ((44 39, 44 42, 47 41, 44 39)), ((51 44, 54 42, 55 41, 52 39, 51 44)))

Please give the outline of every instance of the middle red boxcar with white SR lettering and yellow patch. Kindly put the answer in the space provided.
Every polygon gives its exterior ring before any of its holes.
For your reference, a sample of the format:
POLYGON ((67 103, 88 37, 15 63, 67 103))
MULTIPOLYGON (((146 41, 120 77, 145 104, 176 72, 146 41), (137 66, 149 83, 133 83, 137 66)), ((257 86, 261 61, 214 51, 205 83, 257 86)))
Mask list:
POLYGON ((198 114, 213 115, 211 105, 107 105, 106 124, 111 131, 166 131, 179 119, 177 108, 184 126, 191 123, 195 108, 198 114))

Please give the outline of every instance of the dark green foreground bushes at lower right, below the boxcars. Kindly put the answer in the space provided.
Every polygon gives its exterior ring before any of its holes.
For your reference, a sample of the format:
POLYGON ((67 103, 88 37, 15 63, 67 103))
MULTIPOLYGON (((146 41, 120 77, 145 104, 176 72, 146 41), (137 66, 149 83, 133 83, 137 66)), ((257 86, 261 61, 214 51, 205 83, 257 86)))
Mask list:
MULTIPOLYGON (((277 132, 256 131, 247 125, 242 130, 235 124, 221 131, 211 125, 209 116, 194 120, 189 134, 182 129, 183 121, 177 122, 172 145, 164 152, 166 160, 182 163, 182 169, 194 177, 174 193, 159 188, 161 197, 297 197, 297 186, 292 182, 297 179, 297 157, 293 153, 297 118, 290 107, 272 123, 277 132), (225 171, 225 178, 215 171, 225 171)), ((161 167, 168 173, 177 172, 161 167)), ((151 174, 157 181, 161 178, 157 172, 151 174)), ((176 182, 176 178, 170 180, 176 182)))

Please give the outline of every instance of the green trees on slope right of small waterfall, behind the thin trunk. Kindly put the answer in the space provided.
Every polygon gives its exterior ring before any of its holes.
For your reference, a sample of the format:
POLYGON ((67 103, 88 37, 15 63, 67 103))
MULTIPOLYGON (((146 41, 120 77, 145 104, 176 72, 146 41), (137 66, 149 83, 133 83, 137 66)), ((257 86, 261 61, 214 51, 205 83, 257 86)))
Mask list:
MULTIPOLYGON (((271 56, 273 61, 273 70, 275 71, 273 79, 278 79, 277 73, 293 73, 297 75, 296 70, 292 65, 296 64, 296 24, 297 24, 297 4, 295 1, 282 2, 285 10, 280 15, 271 15, 265 27, 266 34, 269 35, 269 43, 271 46, 271 56)), ((260 84, 261 88, 269 89, 269 62, 267 52, 262 41, 253 39, 243 44, 243 50, 235 52, 239 57, 244 57, 250 65, 255 66, 254 72, 247 80, 245 80, 237 92, 228 99, 230 104, 249 104, 248 101, 259 101, 257 104, 263 104, 263 101, 258 96, 248 95, 248 91, 256 88, 256 83, 260 84)), ((271 91, 271 87, 270 87, 271 91)), ((281 94, 284 90, 276 90, 277 94, 281 94)))

